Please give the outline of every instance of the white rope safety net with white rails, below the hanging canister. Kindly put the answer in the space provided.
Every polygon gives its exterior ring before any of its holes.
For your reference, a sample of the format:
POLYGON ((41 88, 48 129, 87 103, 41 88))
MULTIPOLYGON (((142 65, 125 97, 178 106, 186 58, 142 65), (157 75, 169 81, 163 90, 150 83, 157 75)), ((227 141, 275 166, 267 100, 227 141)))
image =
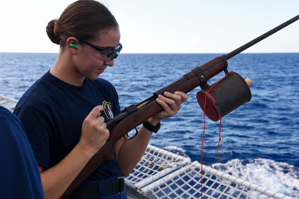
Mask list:
POLYGON ((156 198, 291 199, 281 193, 203 165, 164 149, 148 145, 138 165, 126 177, 142 194, 156 198))

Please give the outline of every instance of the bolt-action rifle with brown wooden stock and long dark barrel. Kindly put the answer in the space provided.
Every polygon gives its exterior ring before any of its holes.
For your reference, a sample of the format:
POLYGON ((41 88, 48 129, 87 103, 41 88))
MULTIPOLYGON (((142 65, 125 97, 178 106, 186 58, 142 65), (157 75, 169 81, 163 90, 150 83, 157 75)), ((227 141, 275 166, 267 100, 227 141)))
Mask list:
MULTIPOLYGON (((66 189, 61 198, 69 197, 69 195, 71 195, 71 193, 74 192, 75 189, 77 189, 78 186, 80 186, 81 183, 83 183, 86 180, 86 178, 88 178, 88 176, 101 163, 103 163, 104 161, 114 160, 114 149, 116 143, 119 141, 120 138, 124 137, 125 135, 128 135, 128 132, 130 132, 132 129, 136 129, 136 127, 141 125, 143 122, 145 122, 146 120, 163 110, 163 108, 156 102, 156 98, 158 95, 163 95, 163 93, 166 91, 171 93, 174 93, 175 91, 188 93, 191 90, 197 88, 198 86, 202 87, 206 85, 207 80, 209 80, 210 78, 214 77, 222 71, 227 71, 228 59, 241 53, 247 48, 258 43, 259 41, 262 41, 263 39, 276 33, 277 31, 283 29, 289 24, 292 24, 298 19, 299 15, 275 27, 267 33, 255 38, 247 44, 244 44, 236 50, 233 50, 232 52, 226 55, 215 57, 212 60, 206 62, 205 64, 193 68, 191 71, 184 74, 183 77, 154 92, 154 94, 150 98, 147 98, 146 100, 140 102, 137 105, 130 105, 126 107, 120 115, 117 115, 116 117, 107 120, 107 127, 114 124, 114 126, 110 129, 109 139, 106 141, 104 146, 101 147, 101 149, 99 149, 99 151, 89 160, 86 166, 75 178, 75 180, 70 184, 68 189, 66 189)), ((129 139, 134 138, 136 134, 129 139)))

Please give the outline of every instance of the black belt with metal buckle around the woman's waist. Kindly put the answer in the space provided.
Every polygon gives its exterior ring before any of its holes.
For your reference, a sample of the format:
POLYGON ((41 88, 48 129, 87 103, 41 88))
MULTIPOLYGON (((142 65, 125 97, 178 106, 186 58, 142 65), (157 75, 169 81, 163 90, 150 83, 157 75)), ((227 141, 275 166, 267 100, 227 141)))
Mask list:
MULTIPOLYGON (((125 178, 119 177, 116 180, 104 182, 105 195, 122 194, 125 192, 125 178)), ((80 185, 69 199, 99 198, 100 191, 98 183, 80 185)))

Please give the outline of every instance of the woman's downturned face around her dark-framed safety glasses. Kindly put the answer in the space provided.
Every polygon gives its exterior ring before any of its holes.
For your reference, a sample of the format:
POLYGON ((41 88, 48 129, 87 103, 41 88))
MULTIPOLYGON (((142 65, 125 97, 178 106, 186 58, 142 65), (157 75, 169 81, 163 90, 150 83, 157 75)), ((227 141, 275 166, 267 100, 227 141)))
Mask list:
MULTIPOLYGON (((99 47, 116 48, 119 46, 119 41, 120 32, 118 28, 115 28, 103 31, 99 39, 88 42, 99 47)), ((95 48, 83 42, 79 43, 82 45, 82 51, 79 51, 77 61, 74 64, 78 72, 84 77, 93 80, 97 79, 107 66, 114 65, 114 59, 103 61, 94 55, 94 52, 97 51, 95 48)))

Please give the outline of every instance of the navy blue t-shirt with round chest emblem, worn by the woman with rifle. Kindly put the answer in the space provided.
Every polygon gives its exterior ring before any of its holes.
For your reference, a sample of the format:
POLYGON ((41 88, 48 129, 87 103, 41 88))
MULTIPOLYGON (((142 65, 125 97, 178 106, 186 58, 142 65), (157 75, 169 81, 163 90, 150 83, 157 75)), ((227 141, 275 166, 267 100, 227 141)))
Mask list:
MULTIPOLYGON (((104 107, 101 116, 105 121, 121 113, 115 88, 102 78, 85 78, 84 86, 78 87, 48 71, 37 80, 21 97, 14 113, 24 126, 38 165, 48 169, 66 157, 79 142, 84 119, 98 105, 104 107)), ((86 182, 119 174, 116 160, 104 162, 86 182)))

